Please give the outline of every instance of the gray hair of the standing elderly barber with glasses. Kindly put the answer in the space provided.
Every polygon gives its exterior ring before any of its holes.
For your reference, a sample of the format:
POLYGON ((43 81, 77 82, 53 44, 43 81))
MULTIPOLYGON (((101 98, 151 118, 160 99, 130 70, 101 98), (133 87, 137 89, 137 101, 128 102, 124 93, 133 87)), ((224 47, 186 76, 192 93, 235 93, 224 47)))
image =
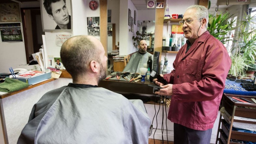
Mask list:
POLYGON ((196 9, 195 16, 197 19, 206 18, 206 28, 207 28, 208 22, 209 22, 208 9, 205 6, 200 6, 200 5, 192 5, 188 7, 186 11, 189 9, 196 9))

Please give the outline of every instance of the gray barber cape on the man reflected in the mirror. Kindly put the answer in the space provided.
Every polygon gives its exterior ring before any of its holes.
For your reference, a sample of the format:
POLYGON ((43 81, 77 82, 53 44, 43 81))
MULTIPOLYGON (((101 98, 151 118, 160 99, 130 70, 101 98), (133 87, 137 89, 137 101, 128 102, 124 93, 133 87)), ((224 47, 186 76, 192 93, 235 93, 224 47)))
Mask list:
POLYGON ((141 54, 140 52, 134 53, 123 69, 123 72, 140 72, 139 68, 144 68, 143 64, 148 62, 149 56, 151 56, 153 61, 153 55, 149 52, 145 54, 141 54))

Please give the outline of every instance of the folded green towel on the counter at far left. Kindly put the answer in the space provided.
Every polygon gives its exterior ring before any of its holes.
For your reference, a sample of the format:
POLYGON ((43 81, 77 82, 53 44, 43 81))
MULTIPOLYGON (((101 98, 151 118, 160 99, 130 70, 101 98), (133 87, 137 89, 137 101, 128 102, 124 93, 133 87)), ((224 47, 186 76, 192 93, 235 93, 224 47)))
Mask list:
POLYGON ((17 79, 5 78, 5 82, 0 84, 0 91, 13 92, 28 87, 27 83, 21 82, 17 79))

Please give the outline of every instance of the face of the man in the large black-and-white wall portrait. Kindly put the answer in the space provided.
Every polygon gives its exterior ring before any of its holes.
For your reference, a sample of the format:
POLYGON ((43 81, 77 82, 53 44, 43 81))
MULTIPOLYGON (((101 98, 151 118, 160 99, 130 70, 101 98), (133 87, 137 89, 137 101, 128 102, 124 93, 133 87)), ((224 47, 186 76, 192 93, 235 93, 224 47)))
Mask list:
POLYGON ((52 20, 54 20, 59 27, 67 26, 68 10, 66 4, 63 0, 51 3, 52 15, 49 15, 52 20))

